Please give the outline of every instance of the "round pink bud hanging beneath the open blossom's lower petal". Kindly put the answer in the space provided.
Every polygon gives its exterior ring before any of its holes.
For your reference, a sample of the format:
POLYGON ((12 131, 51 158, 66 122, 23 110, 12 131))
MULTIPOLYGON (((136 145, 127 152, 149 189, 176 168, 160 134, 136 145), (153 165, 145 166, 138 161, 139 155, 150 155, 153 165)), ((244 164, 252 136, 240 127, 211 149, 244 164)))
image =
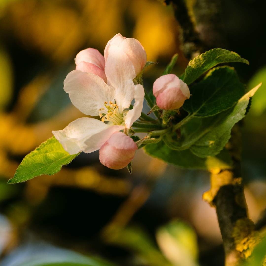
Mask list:
POLYGON ((134 158, 137 144, 123 132, 114 132, 99 149, 100 162, 111 169, 122 169, 134 158))

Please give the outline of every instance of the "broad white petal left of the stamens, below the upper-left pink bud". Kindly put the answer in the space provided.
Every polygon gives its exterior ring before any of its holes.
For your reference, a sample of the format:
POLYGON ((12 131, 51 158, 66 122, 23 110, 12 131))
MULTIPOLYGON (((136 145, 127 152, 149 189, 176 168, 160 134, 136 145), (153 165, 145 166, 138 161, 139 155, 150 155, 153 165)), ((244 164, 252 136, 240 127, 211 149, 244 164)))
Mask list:
POLYGON ((104 102, 114 101, 115 91, 99 76, 73 70, 64 80, 64 90, 74 106, 86 115, 96 116, 104 102))

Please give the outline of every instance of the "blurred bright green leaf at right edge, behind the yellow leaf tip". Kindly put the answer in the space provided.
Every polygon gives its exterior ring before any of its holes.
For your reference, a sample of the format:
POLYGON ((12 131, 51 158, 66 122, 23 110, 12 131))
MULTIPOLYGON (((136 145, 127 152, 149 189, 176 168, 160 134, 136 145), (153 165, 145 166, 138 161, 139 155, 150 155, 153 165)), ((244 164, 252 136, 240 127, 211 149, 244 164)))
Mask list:
POLYGON ((260 69, 248 82, 247 89, 252 89, 262 82, 261 89, 252 97, 250 112, 253 115, 261 115, 266 110, 266 66, 260 69))

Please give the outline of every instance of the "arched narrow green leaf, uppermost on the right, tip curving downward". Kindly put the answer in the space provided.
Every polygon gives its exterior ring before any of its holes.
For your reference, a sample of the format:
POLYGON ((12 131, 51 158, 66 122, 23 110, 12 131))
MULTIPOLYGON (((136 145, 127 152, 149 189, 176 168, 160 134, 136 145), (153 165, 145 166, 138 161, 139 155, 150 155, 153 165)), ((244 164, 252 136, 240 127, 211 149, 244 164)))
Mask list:
POLYGON ((198 55, 188 63, 183 81, 189 85, 215 65, 228 62, 241 62, 249 65, 249 62, 241 58, 237 53, 215 48, 198 55))

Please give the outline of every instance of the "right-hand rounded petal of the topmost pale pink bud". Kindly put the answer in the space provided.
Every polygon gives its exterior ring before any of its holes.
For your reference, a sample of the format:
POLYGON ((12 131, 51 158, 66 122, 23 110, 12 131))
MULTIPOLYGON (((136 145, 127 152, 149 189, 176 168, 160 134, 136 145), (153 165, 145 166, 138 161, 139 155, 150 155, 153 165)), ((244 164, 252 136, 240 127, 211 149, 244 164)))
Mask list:
POLYGON ((126 38, 119 47, 130 59, 138 75, 147 62, 145 49, 140 42, 134 38, 126 38))

